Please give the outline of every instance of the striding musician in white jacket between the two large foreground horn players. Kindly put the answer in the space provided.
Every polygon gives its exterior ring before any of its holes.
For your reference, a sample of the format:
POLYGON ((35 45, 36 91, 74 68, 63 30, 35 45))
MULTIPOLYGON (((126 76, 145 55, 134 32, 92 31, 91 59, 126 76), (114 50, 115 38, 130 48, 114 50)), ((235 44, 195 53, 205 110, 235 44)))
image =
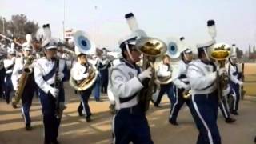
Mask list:
MULTIPOLYGON (((182 40, 182 39, 181 39, 182 40)), ((192 50, 188 46, 185 46, 185 50, 181 50, 181 58, 182 60, 178 63, 178 69, 174 70, 172 78, 174 79, 174 85, 175 85, 175 91, 176 96, 174 100, 174 104, 171 106, 170 111, 170 119, 169 122, 173 125, 178 125, 177 123, 177 116, 178 112, 183 106, 183 104, 186 102, 186 105, 190 108, 191 111, 191 99, 190 98, 184 98, 183 94, 188 93, 190 90, 190 82, 188 81, 188 78, 186 77, 186 71, 187 67, 189 66, 190 62, 192 62, 193 54, 192 50)), ((192 111, 191 111, 192 112, 192 111)))

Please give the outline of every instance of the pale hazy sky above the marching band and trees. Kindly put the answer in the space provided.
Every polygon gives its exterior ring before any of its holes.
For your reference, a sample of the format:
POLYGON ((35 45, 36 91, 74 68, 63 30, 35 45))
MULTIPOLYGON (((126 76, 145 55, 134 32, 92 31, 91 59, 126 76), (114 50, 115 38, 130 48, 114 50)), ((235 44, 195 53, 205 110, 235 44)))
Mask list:
MULTIPOLYGON (((65 27, 84 30, 97 46, 118 47, 118 39, 130 33, 124 14, 133 12, 139 27, 166 41, 186 38, 194 46, 209 38, 206 21, 216 21, 218 42, 236 43, 243 50, 256 44, 255 0, 65 0, 65 27)), ((56 38, 62 38, 64 0, 1 0, 0 16, 26 14, 39 25, 49 22, 56 38)))

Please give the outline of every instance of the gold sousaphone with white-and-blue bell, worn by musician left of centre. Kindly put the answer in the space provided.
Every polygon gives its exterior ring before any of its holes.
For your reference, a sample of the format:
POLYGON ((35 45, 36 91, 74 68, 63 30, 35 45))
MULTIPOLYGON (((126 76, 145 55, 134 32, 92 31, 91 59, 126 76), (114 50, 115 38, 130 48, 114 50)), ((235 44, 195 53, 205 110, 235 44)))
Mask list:
MULTIPOLYGON (((89 38, 89 36, 83 32, 78 30, 74 33, 74 45, 75 45, 75 51, 78 51, 82 54, 93 54, 96 50, 94 42, 92 42, 89 38)), ((88 61, 87 61, 88 62, 88 61)), ((94 66, 92 66, 89 63, 89 77, 85 78, 81 82, 76 82, 74 78, 72 77, 74 74, 71 70, 71 76, 70 76, 70 86, 72 86, 75 90, 83 91, 89 89, 91 86, 93 86, 94 82, 96 81, 96 78, 98 77, 98 71, 94 69, 94 66)))

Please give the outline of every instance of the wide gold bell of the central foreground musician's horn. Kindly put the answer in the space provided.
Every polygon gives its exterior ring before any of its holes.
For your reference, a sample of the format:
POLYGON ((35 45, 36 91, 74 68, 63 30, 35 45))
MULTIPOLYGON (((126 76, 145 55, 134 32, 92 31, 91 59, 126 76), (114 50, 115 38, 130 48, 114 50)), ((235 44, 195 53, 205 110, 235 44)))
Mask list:
POLYGON ((140 38, 136 42, 135 47, 138 51, 146 56, 158 57, 166 53, 167 46, 158 38, 140 38))

